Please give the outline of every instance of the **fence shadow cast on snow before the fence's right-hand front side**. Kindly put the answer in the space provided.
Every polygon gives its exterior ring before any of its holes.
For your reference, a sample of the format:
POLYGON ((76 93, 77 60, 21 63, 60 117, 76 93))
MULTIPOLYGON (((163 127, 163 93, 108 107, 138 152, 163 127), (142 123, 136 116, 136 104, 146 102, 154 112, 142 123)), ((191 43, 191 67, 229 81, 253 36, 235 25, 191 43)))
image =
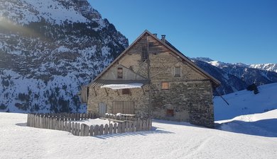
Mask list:
POLYGON ((109 138, 117 138, 117 137, 125 137, 125 136, 148 136, 151 134, 174 134, 174 133, 170 131, 157 129, 156 127, 152 127, 151 131, 125 132, 121 134, 107 134, 107 135, 91 136, 91 137, 98 138, 98 139, 109 139, 109 138))

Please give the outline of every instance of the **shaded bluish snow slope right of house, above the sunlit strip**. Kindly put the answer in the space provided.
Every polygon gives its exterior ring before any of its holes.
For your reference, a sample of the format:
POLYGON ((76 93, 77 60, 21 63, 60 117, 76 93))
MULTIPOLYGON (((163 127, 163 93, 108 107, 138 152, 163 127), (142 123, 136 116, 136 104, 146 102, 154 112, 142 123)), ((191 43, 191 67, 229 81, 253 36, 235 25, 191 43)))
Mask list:
POLYGON ((243 114, 254 114, 277 109, 277 83, 258 87, 258 94, 253 91, 241 90, 239 92, 223 95, 229 102, 227 105, 220 97, 214 98, 214 119, 232 119, 243 114))

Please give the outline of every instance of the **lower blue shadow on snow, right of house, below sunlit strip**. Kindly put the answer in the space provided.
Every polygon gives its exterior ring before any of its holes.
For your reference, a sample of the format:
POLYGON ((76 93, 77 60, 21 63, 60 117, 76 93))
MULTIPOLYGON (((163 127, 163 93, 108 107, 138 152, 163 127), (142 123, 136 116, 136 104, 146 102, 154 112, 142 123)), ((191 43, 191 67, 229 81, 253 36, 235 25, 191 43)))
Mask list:
POLYGON ((216 124, 216 129, 254 136, 277 137, 277 119, 263 119, 256 122, 234 120, 216 124))

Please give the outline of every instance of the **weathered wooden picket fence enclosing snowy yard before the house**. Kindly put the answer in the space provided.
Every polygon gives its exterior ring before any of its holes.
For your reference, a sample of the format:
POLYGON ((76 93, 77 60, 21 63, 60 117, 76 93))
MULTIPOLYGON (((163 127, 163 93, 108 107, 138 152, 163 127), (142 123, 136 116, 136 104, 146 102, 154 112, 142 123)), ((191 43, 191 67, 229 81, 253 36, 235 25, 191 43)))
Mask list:
POLYGON ((36 127, 40 129, 54 129, 60 131, 68 131, 75 136, 99 136, 103 134, 120 134, 134 131, 149 131, 152 127, 152 119, 133 119, 121 120, 114 124, 101 124, 95 126, 88 126, 87 124, 80 124, 73 122, 77 119, 89 119, 85 117, 92 117, 89 114, 76 114, 62 116, 49 114, 28 114, 27 126, 36 127), (70 117, 70 118, 69 118, 70 117), (73 118, 71 118, 73 117, 73 118))

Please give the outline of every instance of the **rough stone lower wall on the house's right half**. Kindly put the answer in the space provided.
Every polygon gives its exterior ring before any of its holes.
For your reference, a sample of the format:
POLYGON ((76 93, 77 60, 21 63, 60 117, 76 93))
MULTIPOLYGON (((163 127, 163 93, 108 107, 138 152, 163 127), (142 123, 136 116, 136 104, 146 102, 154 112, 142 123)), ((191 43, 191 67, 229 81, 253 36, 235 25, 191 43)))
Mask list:
POLYGON ((210 81, 170 82, 169 90, 153 83, 153 117, 213 127, 212 87, 210 81), (173 110, 173 116, 166 114, 173 110))

